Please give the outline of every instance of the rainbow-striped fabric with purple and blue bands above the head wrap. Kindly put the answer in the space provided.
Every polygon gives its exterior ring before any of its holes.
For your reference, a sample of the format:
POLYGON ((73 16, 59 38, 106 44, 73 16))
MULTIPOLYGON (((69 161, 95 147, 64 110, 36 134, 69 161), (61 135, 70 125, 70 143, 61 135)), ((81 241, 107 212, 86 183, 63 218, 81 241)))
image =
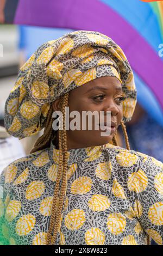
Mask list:
POLYGON ((6 23, 83 29, 110 36, 134 70, 138 101, 163 126, 162 1, 8 0, 4 12, 6 23))

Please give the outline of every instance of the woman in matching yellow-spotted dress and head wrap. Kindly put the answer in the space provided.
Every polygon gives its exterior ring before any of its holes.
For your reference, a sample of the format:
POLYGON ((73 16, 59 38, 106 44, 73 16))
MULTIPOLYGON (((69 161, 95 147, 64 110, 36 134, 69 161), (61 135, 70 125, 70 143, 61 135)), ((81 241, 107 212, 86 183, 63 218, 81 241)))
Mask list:
POLYGON ((76 31, 39 47, 5 104, 13 136, 45 130, 1 175, 4 244, 146 245, 147 235, 162 244, 162 163, 129 148, 124 122, 135 105, 133 72, 108 36, 76 31), (66 106, 105 118, 110 111, 111 133, 66 131, 66 106), (56 132, 58 110, 64 130, 56 132), (127 149, 116 142, 120 124, 127 149))

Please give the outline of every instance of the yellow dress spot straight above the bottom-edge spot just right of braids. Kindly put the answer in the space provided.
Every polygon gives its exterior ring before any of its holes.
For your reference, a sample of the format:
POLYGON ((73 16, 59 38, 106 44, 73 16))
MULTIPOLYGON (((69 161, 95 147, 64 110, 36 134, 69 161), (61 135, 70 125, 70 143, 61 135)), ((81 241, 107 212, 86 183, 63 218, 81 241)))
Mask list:
POLYGON ((109 208, 110 200, 102 194, 94 194, 89 200, 88 206, 92 211, 104 211, 109 208))

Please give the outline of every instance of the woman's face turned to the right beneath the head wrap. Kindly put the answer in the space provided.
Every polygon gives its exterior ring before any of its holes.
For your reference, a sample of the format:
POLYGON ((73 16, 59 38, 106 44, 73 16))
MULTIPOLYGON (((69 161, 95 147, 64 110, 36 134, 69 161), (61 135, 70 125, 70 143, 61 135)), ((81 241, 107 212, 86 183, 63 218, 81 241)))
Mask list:
MULTIPOLYGON (((85 148, 95 145, 109 143, 114 137, 115 131, 122 120, 122 86, 116 77, 100 77, 83 84, 69 92, 68 107, 69 112, 78 111, 80 113, 81 130, 67 130, 67 149, 85 148), (103 111, 106 122, 106 111, 110 111, 111 122, 115 123, 108 136, 101 136, 101 132, 106 130, 95 130, 95 118, 92 118, 92 130, 82 130, 83 111, 103 111)), ((53 102, 54 110, 58 110, 59 100, 53 102)), ((92 116, 93 117, 93 116, 92 116)), ((70 118, 71 120, 74 118, 70 118)), ((96 122, 97 123, 97 122, 96 122)), ((114 124, 111 123, 111 126, 114 124)))

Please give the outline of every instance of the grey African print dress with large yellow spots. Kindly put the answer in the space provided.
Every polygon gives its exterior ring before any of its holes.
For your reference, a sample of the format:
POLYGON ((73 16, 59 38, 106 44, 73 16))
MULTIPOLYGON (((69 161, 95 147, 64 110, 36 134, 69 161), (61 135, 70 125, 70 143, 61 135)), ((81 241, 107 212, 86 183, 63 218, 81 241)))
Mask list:
MULTIPOLYGON (((1 174, 1 244, 46 245, 59 150, 12 162, 1 174)), ((163 164, 106 144, 68 151, 56 245, 162 245, 163 164)))

